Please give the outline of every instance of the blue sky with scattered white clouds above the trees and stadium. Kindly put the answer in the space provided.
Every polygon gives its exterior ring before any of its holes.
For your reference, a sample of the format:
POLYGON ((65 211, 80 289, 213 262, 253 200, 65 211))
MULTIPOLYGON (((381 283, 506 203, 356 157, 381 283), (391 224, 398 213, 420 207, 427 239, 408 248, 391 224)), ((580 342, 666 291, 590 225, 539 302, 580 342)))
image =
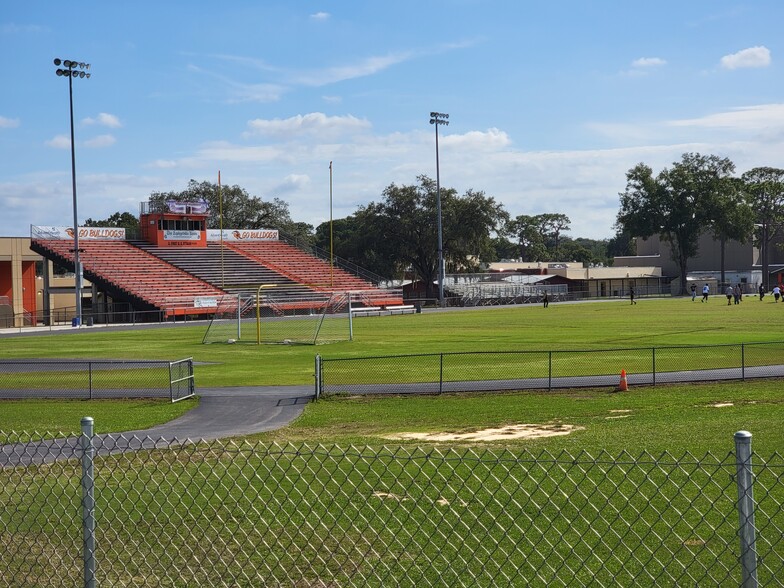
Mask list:
POLYGON ((784 167, 779 0, 5 2, 0 236, 138 213, 190 179, 329 220, 435 177, 613 234, 625 173, 697 151, 784 167))

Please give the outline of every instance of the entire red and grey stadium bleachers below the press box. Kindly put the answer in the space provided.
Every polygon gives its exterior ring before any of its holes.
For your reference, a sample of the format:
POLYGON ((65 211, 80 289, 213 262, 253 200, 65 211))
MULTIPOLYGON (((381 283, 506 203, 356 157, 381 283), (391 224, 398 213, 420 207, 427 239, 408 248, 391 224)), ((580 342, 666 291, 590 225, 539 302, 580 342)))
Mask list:
MULTIPOLYGON (((33 239, 31 248, 58 265, 72 267, 73 241, 33 239)), ((351 291, 360 306, 394 307, 402 293, 387 291, 282 241, 208 243, 206 248, 157 247, 147 242, 84 239, 79 258, 85 278, 139 310, 165 316, 205 314, 210 298, 272 286, 266 296, 287 308, 314 293, 351 291), (196 304, 196 298, 201 298, 196 304), (205 301, 206 299, 206 301, 205 301)))

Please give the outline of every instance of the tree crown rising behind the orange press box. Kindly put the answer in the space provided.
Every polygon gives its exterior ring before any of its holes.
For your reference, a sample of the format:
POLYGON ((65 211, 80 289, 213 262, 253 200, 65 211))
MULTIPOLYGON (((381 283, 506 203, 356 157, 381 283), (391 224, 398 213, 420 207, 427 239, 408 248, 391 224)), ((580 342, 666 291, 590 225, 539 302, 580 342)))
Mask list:
POLYGON ((221 186, 212 182, 191 180, 181 192, 153 192, 150 203, 163 204, 166 200, 197 202, 205 200, 209 208, 207 228, 221 226, 220 214, 223 212, 224 229, 279 229, 290 237, 310 242, 313 227, 305 223, 295 223, 289 215, 289 205, 278 199, 262 200, 251 196, 240 186, 221 186))

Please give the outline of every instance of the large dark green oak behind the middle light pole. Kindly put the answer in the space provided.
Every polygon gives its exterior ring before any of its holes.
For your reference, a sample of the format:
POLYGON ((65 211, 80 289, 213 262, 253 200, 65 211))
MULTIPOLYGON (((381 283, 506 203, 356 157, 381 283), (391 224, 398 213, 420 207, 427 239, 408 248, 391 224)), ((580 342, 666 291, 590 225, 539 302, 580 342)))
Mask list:
MULTIPOLYGON (((354 215, 355 243, 362 243, 365 267, 382 275, 411 270, 433 295, 438 277, 437 190, 434 180, 418 176, 417 184, 390 184, 380 202, 361 206, 354 215)), ((443 255, 451 272, 475 271, 479 259, 492 255, 492 233, 506 220, 503 207, 484 192, 468 190, 463 196, 441 188, 443 255)), ((356 251, 356 245, 346 246, 356 251)), ((344 256, 342 250, 338 255, 344 256)), ((363 264, 360 264, 363 265, 363 264)))

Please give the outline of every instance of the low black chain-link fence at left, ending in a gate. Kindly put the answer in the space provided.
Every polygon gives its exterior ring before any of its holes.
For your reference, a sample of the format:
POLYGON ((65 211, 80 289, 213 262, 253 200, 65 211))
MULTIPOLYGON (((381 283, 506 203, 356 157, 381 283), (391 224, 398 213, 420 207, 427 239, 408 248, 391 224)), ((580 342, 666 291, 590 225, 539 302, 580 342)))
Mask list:
POLYGON ((0 360, 0 399, 169 398, 195 393, 193 359, 0 360))

